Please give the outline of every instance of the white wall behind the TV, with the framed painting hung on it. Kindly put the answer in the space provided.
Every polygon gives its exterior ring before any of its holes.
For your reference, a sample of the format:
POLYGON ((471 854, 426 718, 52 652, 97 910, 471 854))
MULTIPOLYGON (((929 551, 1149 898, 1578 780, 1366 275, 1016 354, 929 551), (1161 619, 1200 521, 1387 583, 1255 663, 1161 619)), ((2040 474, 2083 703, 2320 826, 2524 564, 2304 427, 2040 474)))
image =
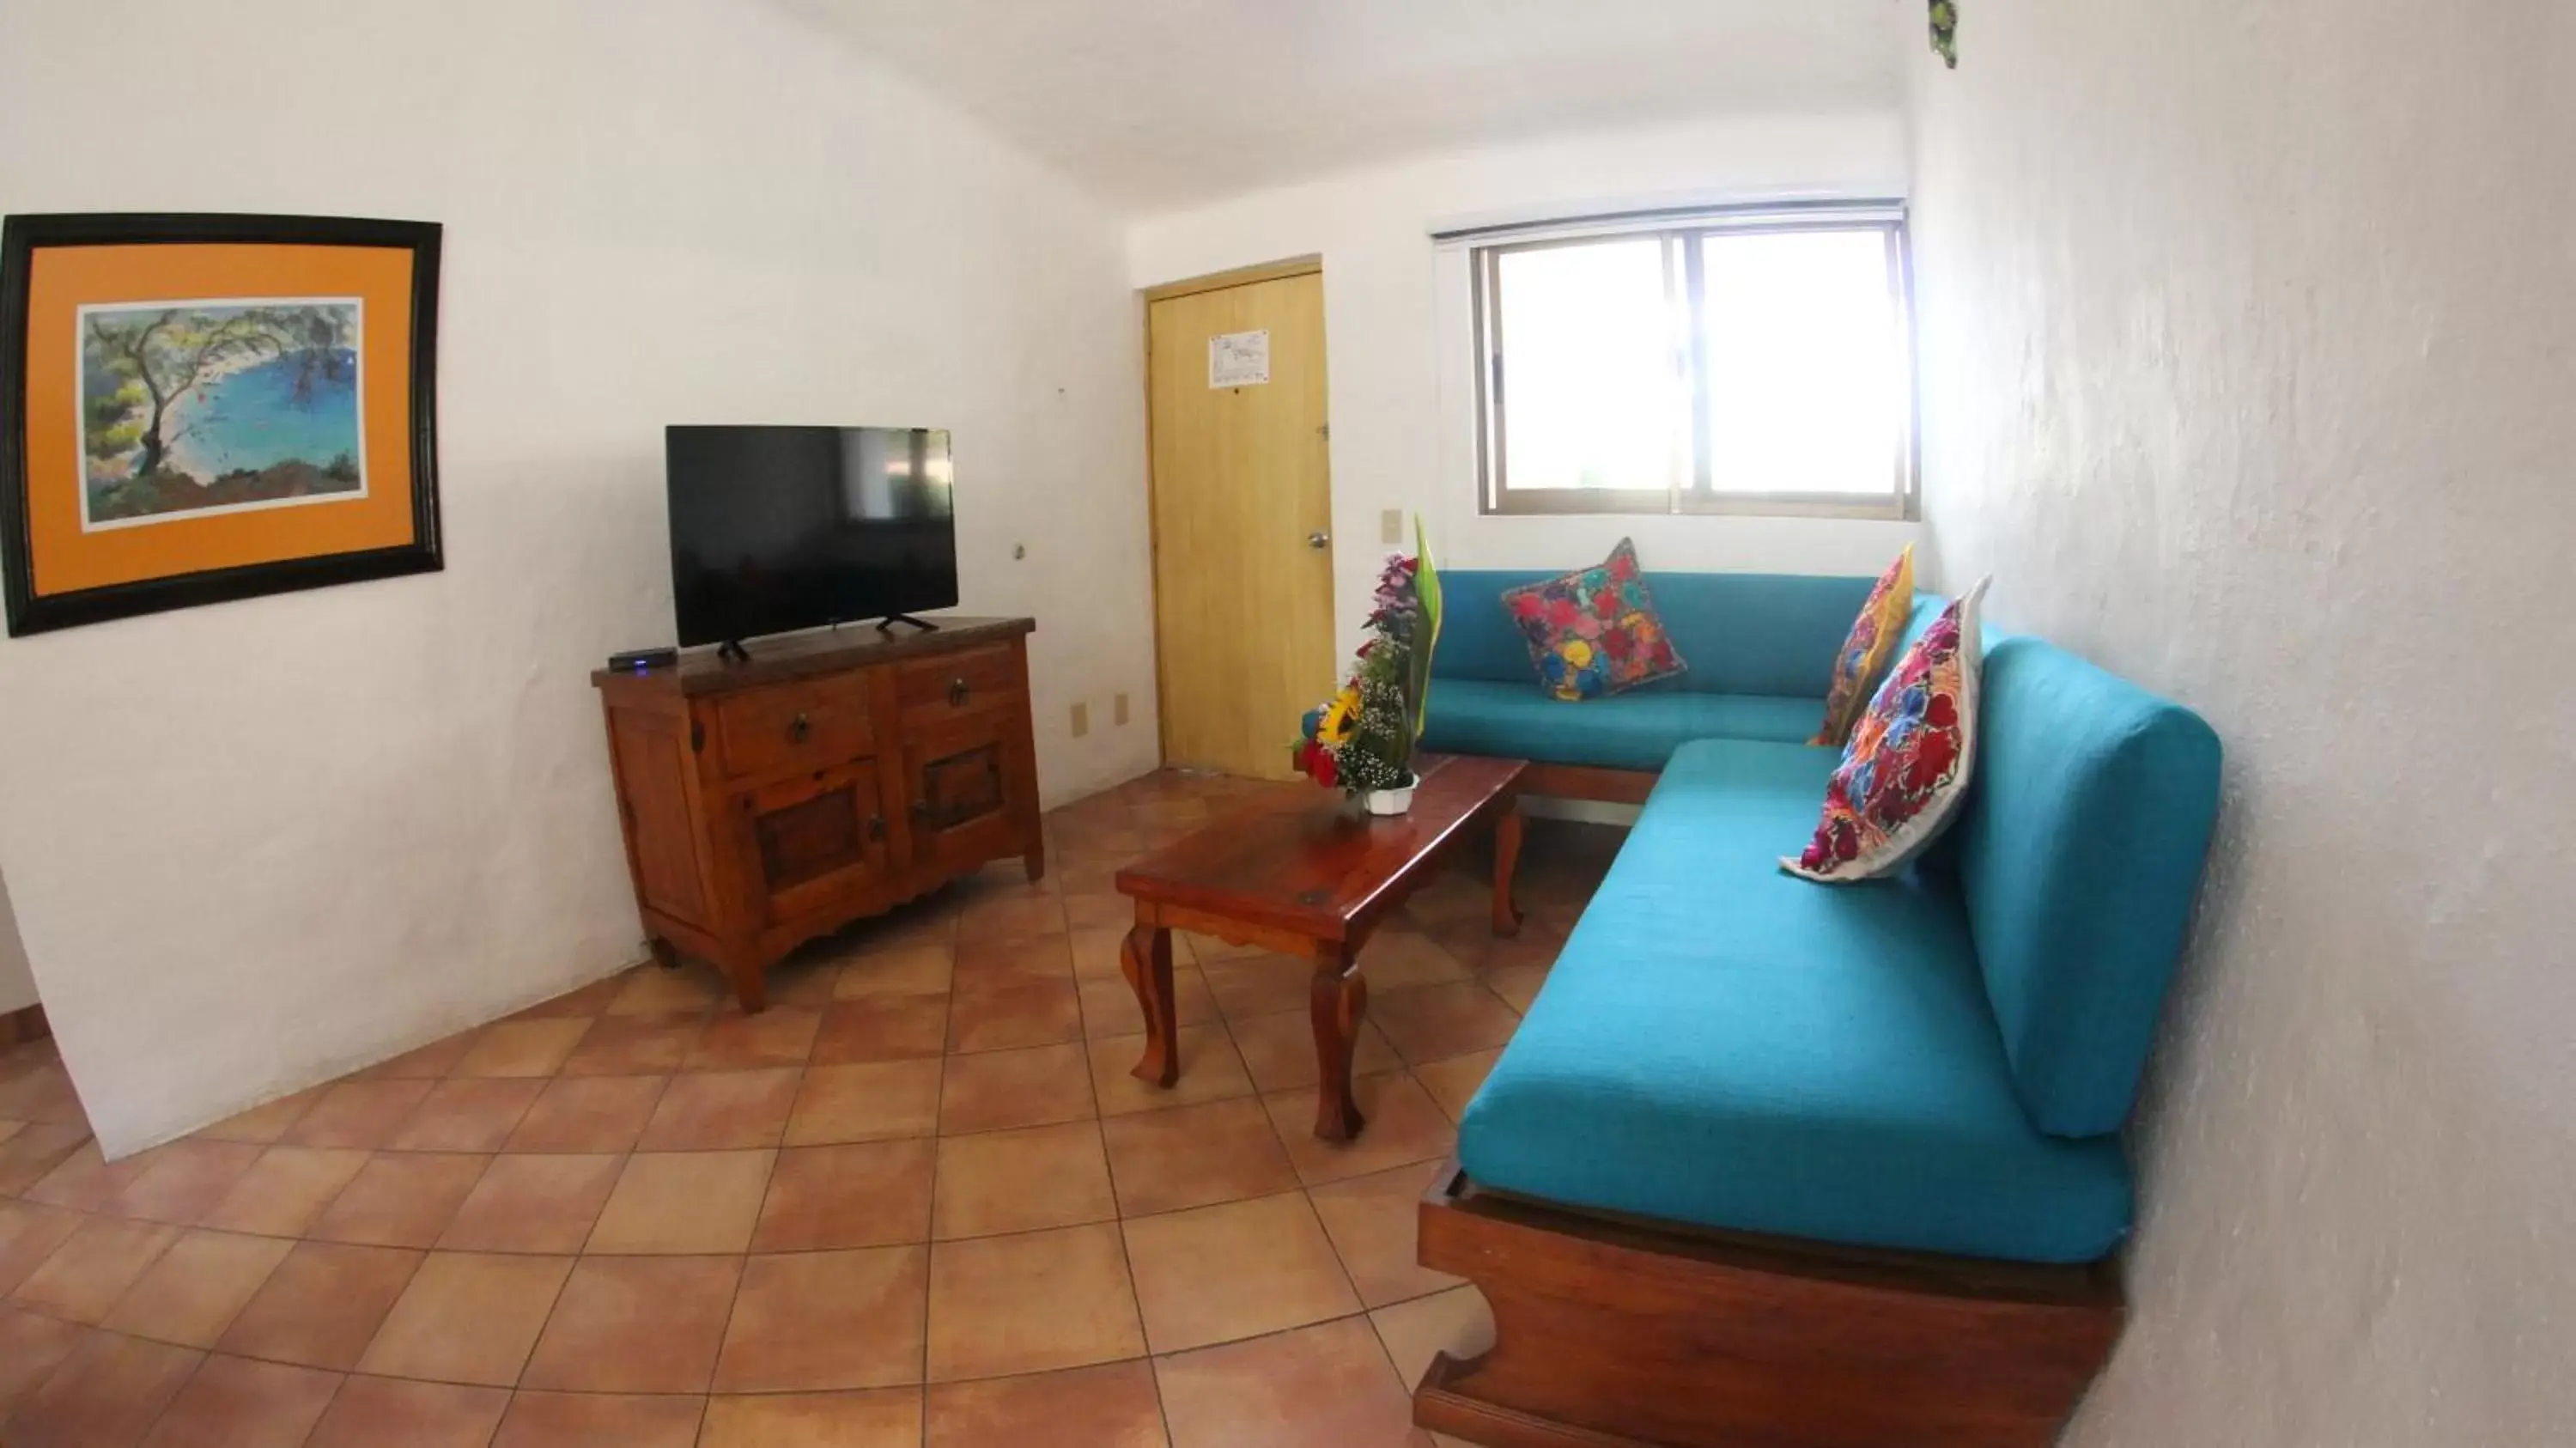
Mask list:
POLYGON ((1154 763, 1115 222, 765 5, 8 5, 0 209, 446 222, 443 575, 0 647, 0 868, 111 1152, 639 953, 585 675, 672 631, 665 423, 953 428, 1046 794, 1154 763))

